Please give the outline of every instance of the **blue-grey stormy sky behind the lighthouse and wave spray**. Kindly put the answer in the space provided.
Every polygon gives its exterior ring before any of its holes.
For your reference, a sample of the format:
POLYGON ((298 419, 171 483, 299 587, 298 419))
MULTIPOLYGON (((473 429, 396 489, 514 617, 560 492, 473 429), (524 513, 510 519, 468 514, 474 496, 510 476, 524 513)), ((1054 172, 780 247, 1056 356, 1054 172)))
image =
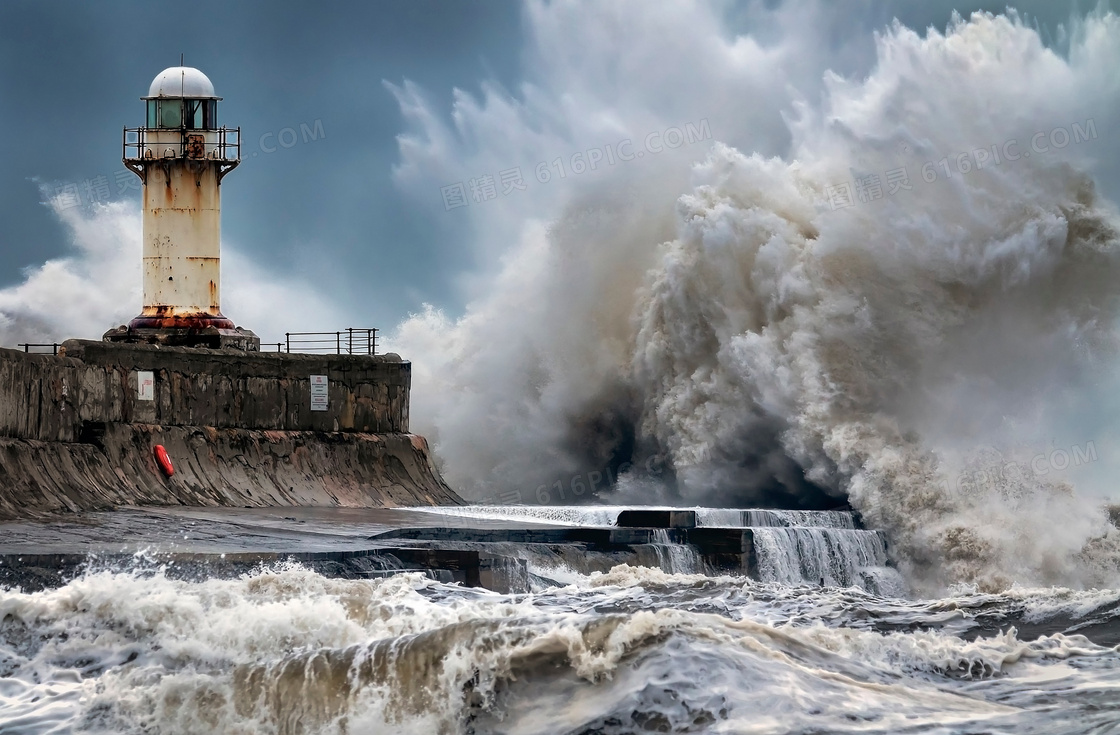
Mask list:
MULTIPOLYGON (((765 43, 768 35, 780 35, 766 25, 765 10, 775 4, 726 4, 726 29, 765 43)), ((946 0, 843 4, 823 22, 834 47, 830 66, 844 74, 866 72, 874 61, 872 31, 894 16, 914 28, 943 29, 953 8, 965 13, 1004 8, 946 0)), ((1049 38, 1074 3, 1018 4, 1049 38)), ((272 272, 317 283, 353 313, 354 323, 391 328, 424 303, 460 313, 470 298, 470 275, 485 271, 492 254, 466 242, 478 239, 485 220, 523 212, 501 197, 485 207, 448 211, 432 182, 408 186, 408 171, 394 179, 393 167, 401 164, 398 136, 410 123, 400 95, 385 83, 422 97, 424 114, 440 117, 452 134, 452 106, 483 100, 484 89, 500 90, 514 102, 524 102, 529 90, 558 94, 540 78, 540 55, 578 54, 586 29, 573 29, 561 39, 563 48, 550 52, 526 38, 532 32, 526 12, 505 0, 4 2, 0 287, 19 282, 22 269, 67 254, 72 246, 63 222, 41 203, 44 188, 48 194, 76 190, 83 206, 139 201, 136 180, 121 166, 121 129, 142 123, 139 97, 158 72, 177 65, 181 53, 224 97, 222 122, 243 131, 244 162, 223 185, 226 242, 272 272), (277 141, 284 129, 296 134, 289 148, 277 141), (321 134, 309 137, 308 130, 321 134)), ((623 25, 623 34, 642 28, 634 18, 623 25)), ((692 63, 687 46, 662 53, 670 65, 692 63)), ((820 72, 806 76, 819 78, 820 72)), ((717 140, 767 155, 785 152, 783 133, 766 140, 720 117, 717 108, 682 110, 679 122, 708 119, 717 140)), ((780 122, 785 112, 775 108, 765 114, 780 122)), ((292 133, 284 136, 286 142, 292 140, 292 133)), ((472 142, 455 146, 469 150, 472 142)), ((536 162, 512 152, 511 159, 511 166, 529 166, 525 176, 536 162)), ((228 294, 235 285, 225 288, 228 294)), ((338 326, 347 325, 321 328, 338 326)))

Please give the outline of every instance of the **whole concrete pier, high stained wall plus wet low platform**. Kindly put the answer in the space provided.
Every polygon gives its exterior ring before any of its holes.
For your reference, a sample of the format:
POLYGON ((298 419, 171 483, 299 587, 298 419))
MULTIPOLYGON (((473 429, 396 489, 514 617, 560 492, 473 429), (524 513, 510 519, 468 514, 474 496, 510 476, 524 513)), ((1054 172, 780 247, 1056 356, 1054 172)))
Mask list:
POLYGON ((284 560, 503 593, 553 584, 550 569, 620 564, 757 577, 763 531, 752 527, 811 524, 782 511, 708 512, 708 523, 741 525, 713 528, 690 509, 567 527, 426 509, 463 501, 409 432, 410 388, 411 365, 392 354, 85 341, 58 355, 0 350, 0 585, 53 586, 99 568, 202 578, 284 560))

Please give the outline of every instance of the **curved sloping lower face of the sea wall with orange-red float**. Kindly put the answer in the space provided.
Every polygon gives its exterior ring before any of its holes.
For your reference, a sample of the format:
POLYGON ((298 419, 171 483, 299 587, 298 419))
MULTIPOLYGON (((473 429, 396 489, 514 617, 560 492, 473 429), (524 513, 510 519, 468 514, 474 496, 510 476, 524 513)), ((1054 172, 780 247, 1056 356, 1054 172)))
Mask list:
POLYGON ((410 434, 254 431, 111 424, 84 443, 0 439, 0 519, 118 505, 461 502, 410 434), (165 477, 152 447, 175 465, 165 477))

